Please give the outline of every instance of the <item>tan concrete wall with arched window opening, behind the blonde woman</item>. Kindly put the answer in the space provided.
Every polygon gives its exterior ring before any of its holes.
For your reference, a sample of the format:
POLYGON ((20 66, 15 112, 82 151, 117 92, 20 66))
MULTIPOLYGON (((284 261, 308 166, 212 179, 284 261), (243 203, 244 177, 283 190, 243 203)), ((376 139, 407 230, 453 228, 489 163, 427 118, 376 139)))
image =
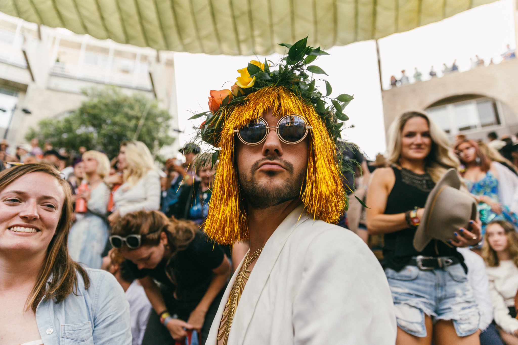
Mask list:
POLYGON ((518 59, 496 65, 453 72, 441 78, 394 87, 382 92, 385 131, 394 119, 407 111, 426 110, 447 97, 481 95, 499 101, 500 126, 467 131, 471 139, 485 139, 486 133, 499 135, 518 132, 518 59))

